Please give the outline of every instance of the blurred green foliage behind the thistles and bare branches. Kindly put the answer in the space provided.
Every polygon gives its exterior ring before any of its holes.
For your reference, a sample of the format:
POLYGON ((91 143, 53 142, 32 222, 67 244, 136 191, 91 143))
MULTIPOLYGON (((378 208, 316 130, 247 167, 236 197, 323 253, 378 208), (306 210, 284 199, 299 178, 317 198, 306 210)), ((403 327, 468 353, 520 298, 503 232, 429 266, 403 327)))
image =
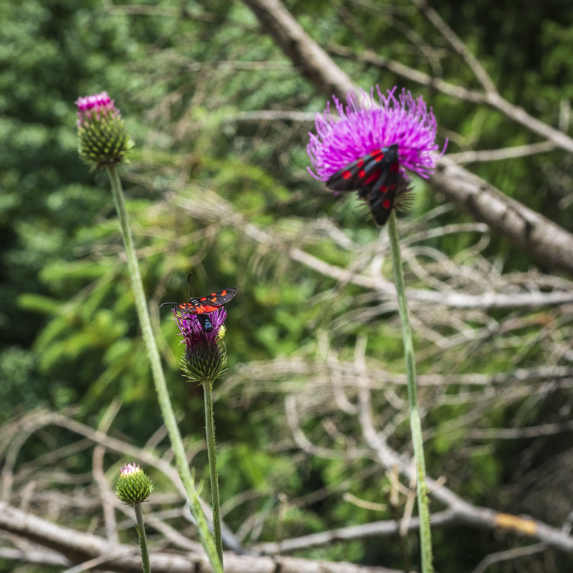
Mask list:
MULTIPOLYGON (((378 233, 354 204, 325 193, 305 171, 305 130, 311 125, 286 122, 273 127, 228 120, 238 112, 316 111, 325 104, 323 95, 261 34, 244 5, 227 0, 146 5, 163 7, 166 13, 182 9, 182 17, 125 14, 99 0, 0 3, 0 422, 18 410, 79 404, 85 421, 96 425, 105 407, 119 396, 124 406, 114 423, 116 431, 142 445, 161 425, 127 272, 119 257, 120 237, 107 178, 89 172, 77 157, 73 102, 78 96, 107 90, 136 140, 132 163, 123 174, 138 248, 151 253, 141 260, 148 297, 155 303, 185 299, 191 268, 195 294, 225 286, 240 289, 227 307, 230 374, 240 363, 312 355, 317 331, 343 311, 344 302, 327 308, 313 299, 335 282, 285 265, 272 244, 258 252, 237 227, 213 234, 209 225, 198 223, 183 209, 154 210, 154 205, 189 186, 196 201, 216 191, 246 221, 272 227, 285 237, 295 237, 304 230, 305 221, 325 215, 358 244, 378 233), (193 68, 197 62, 237 60, 276 65, 193 68), (174 239, 179 239, 176 248, 169 246, 174 239), (153 298, 157 296, 158 300, 153 298)), ((409 42, 391 25, 389 14, 394 14, 430 45, 445 49, 409 2, 315 0, 286 5, 321 45, 333 41, 357 52, 371 48, 427 73, 440 72, 416 50, 406 49, 409 42), (352 18, 347 17, 348 10, 352 18)), ((573 97, 570 3, 437 0, 432 5, 484 62, 504 97, 541 120, 558 124, 562 101, 573 97)), ((422 93, 438 117, 441 141, 450 135, 448 151, 536 140, 499 113, 403 84, 390 73, 349 60, 339 63, 366 89, 376 83, 383 89, 398 84, 422 93)), ((477 87, 453 54, 442 57, 439 66, 445 79, 477 87)), ((573 231, 573 202, 568 201, 571 160, 564 152, 472 168, 504 193, 573 231)), ((414 215, 438 204, 423 183, 417 184, 417 191, 414 215)), ((440 220, 469 219, 450 211, 440 220)), ((455 254, 467 240, 445 237, 435 246, 455 254)), ((309 241, 307 250, 333 264, 347 262, 346 254, 320 241, 309 241)), ((503 256, 506 272, 533 264, 527 253, 496 239, 486 254, 503 256)), ((355 294, 355 287, 346 289, 355 294)), ((160 330, 182 429, 201 439, 202 393, 188 387, 180 375, 179 338, 168 312, 161 314, 160 330)), ((342 355, 351 355, 360 332, 368 333, 369 354, 399 364, 399 344, 383 328, 370 325, 336 333, 342 355)), ((508 364, 507 356, 498 356, 493 362, 484 359, 481 368, 497 372, 508 364)), ((475 362, 464 367, 476 371, 475 362)), ((442 364, 442 370, 448 371, 448 365, 442 364)), ((253 401, 223 397, 217 402, 223 501, 252 489, 259 494, 256 503, 264 507, 268 500, 276 500, 278 492, 304 496, 347 477, 346 462, 300 464, 288 449, 270 447, 287 431, 274 419, 276 399, 269 394, 253 401)), ((445 418, 450 414, 445 411, 445 418)), ((502 423, 507 415, 492 414, 491 423, 502 423)), ((543 411, 535 416, 532 422, 542 421, 543 411)), ((536 464, 571 445, 568 437, 560 440, 541 452, 536 464)), ((436 440, 429 447, 429 471, 437 476, 440 454, 453 445, 436 440)), ((499 488, 512 473, 508 460, 521 448, 520 442, 501 445, 472 458, 460 493, 475 503, 501 507, 499 488)), ((40 450, 40 445, 32 444, 22 455, 33 457, 40 450)), ((83 463, 79 462, 78 471, 83 463)), ((356 469, 355 465, 352 472, 356 469)), ((364 482, 366 490, 363 483, 350 492, 376 501, 379 481, 380 475, 374 474, 364 482)), ((241 517, 242 509, 236 509, 227 521, 236 529, 241 517)), ((289 511, 283 535, 374 519, 381 519, 380 514, 331 497, 289 511)), ((271 523, 261 539, 273 539, 274 532, 271 523)), ((474 536, 467 530, 446 529, 435 536, 437 567, 444 572, 471 571, 496 546, 490 533, 474 536)), ((395 567, 400 563, 394 541, 353 541, 301 555, 395 567)), ((562 566, 567 567, 565 562, 562 566)))

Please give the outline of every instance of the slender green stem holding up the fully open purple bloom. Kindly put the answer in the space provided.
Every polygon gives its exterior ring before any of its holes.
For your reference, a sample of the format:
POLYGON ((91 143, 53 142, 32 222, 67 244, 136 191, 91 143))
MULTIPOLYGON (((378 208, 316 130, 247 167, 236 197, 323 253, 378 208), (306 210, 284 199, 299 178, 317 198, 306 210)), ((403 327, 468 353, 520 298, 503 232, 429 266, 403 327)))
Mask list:
POLYGON ((402 339, 404 341, 404 358, 406 360, 406 375, 408 381, 408 401, 410 405, 410 429, 412 444, 414 446, 414 461, 417 474, 418 514, 420 517, 420 548, 422 554, 422 573, 433 573, 430 531, 430 510, 428 507, 426 486, 426 463, 424 461, 424 448, 422 440, 422 423, 418 409, 418 387, 416 383, 416 362, 414 357, 414 344, 412 343, 412 328, 406 301, 406 286, 402 269, 402 256, 400 254, 400 239, 396 224, 396 212, 393 210, 388 218, 388 238, 392 249, 394 263, 394 280, 398 295, 398 309, 402 323, 402 339))

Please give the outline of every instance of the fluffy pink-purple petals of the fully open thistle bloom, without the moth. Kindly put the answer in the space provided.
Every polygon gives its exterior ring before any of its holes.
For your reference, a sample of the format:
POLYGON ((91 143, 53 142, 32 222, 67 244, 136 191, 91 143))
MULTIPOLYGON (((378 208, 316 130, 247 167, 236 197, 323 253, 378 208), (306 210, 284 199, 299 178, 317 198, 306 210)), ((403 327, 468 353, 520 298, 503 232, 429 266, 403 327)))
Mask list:
POLYGON ((386 97, 378 86, 376 91, 380 107, 374 102, 374 88, 371 88, 370 97, 360 90, 363 98, 370 101, 366 107, 352 92, 347 96, 346 110, 333 96, 339 120, 332 117, 329 102, 322 114, 316 114, 317 135, 309 133, 311 140, 307 146, 316 174, 310 167, 308 171, 315 179, 325 181, 356 159, 395 143, 402 167, 426 178, 433 172, 432 152, 439 146, 435 143, 437 123, 431 108, 427 111, 422 96, 414 100, 405 89, 398 99, 394 96, 396 87, 387 90, 386 97))

